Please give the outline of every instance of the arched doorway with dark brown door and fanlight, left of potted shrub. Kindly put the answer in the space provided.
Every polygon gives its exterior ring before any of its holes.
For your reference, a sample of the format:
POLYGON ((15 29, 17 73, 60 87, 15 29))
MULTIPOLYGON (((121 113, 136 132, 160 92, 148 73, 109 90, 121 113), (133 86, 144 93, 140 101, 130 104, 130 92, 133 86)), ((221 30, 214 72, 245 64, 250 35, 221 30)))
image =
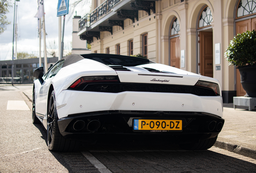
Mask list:
POLYGON ((213 77, 213 16, 209 6, 200 10, 197 22, 198 33, 198 73, 213 77))

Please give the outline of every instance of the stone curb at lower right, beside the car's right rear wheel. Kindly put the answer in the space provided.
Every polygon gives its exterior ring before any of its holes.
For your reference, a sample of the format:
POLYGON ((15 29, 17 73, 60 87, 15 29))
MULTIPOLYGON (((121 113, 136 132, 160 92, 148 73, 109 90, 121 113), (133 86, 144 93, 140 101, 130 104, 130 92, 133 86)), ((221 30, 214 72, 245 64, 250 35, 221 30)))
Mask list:
POLYGON ((240 145, 234 145, 227 142, 216 141, 213 145, 215 147, 231 151, 233 153, 256 159, 256 150, 242 147, 240 145))

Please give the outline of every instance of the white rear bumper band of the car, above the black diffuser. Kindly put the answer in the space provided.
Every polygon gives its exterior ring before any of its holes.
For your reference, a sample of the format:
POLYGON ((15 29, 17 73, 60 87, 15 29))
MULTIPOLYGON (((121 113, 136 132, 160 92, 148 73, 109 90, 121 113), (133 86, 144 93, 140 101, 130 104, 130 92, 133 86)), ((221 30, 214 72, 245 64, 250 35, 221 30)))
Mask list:
POLYGON ((79 113, 114 110, 200 112, 223 116, 221 96, 182 93, 100 93, 63 90, 56 97, 56 106, 59 119, 79 113))

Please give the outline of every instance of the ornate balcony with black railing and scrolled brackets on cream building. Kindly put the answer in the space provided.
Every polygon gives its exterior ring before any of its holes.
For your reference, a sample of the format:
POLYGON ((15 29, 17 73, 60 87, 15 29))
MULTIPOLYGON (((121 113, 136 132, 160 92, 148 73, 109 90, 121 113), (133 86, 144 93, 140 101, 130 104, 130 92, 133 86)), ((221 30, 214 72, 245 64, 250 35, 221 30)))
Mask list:
POLYGON ((77 35, 81 40, 91 42, 93 37, 99 39, 101 31, 112 34, 112 26, 121 26, 124 29, 125 19, 138 21, 138 10, 144 10, 149 15, 155 13, 155 0, 106 0, 91 14, 79 20, 77 35))

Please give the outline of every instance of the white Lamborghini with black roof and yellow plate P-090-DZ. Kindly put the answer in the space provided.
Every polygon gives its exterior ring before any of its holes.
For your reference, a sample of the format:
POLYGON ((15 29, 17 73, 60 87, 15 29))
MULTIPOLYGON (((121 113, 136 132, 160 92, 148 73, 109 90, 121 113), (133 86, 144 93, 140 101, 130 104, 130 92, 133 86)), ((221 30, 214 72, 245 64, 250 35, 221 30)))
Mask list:
POLYGON ((224 119, 218 80, 145 58, 72 54, 34 71, 33 123, 52 151, 116 135, 165 138, 188 150, 212 147, 224 119))

